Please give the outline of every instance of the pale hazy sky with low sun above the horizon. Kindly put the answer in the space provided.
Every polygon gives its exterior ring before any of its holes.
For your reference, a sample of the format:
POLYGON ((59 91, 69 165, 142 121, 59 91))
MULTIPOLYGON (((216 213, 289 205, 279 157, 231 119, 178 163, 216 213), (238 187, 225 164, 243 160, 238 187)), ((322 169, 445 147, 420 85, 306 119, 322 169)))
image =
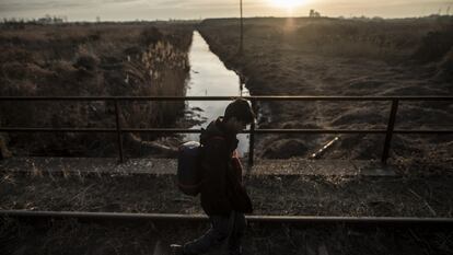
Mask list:
MULTIPOLYGON (((240 15, 240 0, 0 0, 0 18, 67 16, 69 21, 191 20, 240 15)), ((453 0, 243 0, 244 16, 408 18, 453 14, 453 0), (451 7, 451 8, 449 8, 451 7)))

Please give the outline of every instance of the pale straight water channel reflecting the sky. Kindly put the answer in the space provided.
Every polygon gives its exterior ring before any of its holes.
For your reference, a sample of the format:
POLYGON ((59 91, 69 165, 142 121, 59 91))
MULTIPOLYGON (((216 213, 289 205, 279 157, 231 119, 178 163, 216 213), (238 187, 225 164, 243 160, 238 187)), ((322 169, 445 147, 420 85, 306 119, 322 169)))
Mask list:
MULTIPOLYGON (((189 53, 190 80, 187 84, 187 96, 237 96, 241 95, 240 78, 234 71, 228 70, 219 57, 209 50, 209 46, 198 32, 194 33, 189 53)), ((248 95, 244 86, 242 95, 248 95)), ((222 116, 228 101, 190 101, 187 102, 188 109, 195 109, 194 118, 201 120, 201 125, 193 128, 205 128, 212 119, 222 116), (196 109, 202 111, 196 111, 196 109)), ((187 139, 198 140, 199 135, 188 135, 187 139)), ((239 135, 241 153, 248 151, 248 138, 239 135)))

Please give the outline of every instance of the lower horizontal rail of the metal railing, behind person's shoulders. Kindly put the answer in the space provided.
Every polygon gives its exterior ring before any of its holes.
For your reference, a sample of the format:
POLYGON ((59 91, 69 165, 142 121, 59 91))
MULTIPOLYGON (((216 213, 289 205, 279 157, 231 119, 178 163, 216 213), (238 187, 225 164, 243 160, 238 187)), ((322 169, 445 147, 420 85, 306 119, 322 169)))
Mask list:
MULTIPOLYGON (((0 128, 2 132, 117 132, 115 128, 0 128)), ((121 128, 120 132, 199 134, 201 129, 179 128, 121 128)), ((255 129, 255 134, 386 134, 385 129, 255 129)), ((394 134, 453 134, 449 130, 395 129, 394 134)), ((241 134, 252 134, 244 130, 241 134)))

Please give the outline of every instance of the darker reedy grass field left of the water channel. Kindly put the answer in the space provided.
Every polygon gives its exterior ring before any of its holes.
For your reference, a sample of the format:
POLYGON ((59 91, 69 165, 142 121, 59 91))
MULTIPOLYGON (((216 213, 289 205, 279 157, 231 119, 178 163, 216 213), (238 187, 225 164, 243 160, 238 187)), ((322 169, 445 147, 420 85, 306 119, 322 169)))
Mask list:
MULTIPOLYGON (((101 23, 0 26, 2 96, 184 95, 190 24, 101 23)), ((123 102, 123 127, 174 125, 184 102, 123 102)), ((112 102, 2 102, 2 127, 115 126, 112 102)), ((105 157, 115 137, 102 134, 10 134, 13 154, 105 157)), ((126 136, 128 153, 147 153, 143 140, 126 136)), ((3 139, 7 140, 7 139, 3 139)))

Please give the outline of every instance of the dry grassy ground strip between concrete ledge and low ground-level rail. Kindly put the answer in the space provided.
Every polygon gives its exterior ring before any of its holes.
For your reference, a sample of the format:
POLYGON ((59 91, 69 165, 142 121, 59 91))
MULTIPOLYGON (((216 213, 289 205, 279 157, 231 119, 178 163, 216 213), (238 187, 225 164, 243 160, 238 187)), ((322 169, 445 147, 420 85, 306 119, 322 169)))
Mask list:
MULTIPOLYGON (((453 179, 252 175, 255 215, 452 217, 453 179), (272 194, 272 196, 269 196, 272 194)), ((175 175, 1 175, 0 209, 202 213, 175 175)))

